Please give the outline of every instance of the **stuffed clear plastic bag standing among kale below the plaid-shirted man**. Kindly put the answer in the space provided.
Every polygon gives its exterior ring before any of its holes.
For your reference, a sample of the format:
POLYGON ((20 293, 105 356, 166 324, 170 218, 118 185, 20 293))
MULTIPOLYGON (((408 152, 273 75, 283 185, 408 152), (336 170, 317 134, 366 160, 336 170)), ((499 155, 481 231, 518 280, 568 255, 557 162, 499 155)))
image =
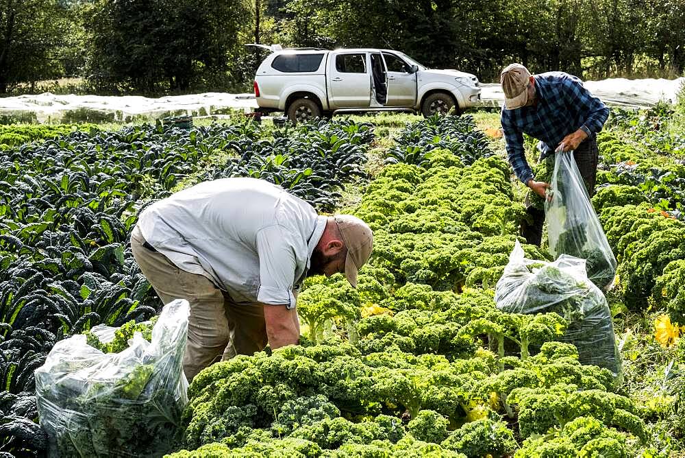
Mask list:
POLYGON ((560 340, 575 345, 581 363, 606 367, 621 383, 609 304, 588 280, 584 259, 567 254, 551 263, 527 259, 516 241, 495 287, 495 302, 508 313, 558 313, 569 323, 560 340))

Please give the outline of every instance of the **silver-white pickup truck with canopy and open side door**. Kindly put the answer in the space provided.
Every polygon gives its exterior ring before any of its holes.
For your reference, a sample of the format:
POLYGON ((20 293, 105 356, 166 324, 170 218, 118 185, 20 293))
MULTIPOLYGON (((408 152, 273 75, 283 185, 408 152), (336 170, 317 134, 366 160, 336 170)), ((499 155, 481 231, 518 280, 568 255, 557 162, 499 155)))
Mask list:
POLYGON ((260 64, 254 90, 260 112, 293 122, 384 110, 459 115, 480 101, 475 75, 427 69, 390 49, 277 50, 260 64))

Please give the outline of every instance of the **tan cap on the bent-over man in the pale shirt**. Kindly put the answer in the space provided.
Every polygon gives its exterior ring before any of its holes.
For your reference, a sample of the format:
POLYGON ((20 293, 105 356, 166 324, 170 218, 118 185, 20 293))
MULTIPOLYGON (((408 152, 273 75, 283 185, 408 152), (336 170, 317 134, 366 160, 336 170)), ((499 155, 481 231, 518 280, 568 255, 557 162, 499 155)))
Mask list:
POLYGON ((345 258, 345 276, 353 287, 357 287, 357 273, 362 265, 369 261, 373 249, 373 232, 361 219, 352 215, 336 215, 336 225, 343 234, 347 248, 345 258))

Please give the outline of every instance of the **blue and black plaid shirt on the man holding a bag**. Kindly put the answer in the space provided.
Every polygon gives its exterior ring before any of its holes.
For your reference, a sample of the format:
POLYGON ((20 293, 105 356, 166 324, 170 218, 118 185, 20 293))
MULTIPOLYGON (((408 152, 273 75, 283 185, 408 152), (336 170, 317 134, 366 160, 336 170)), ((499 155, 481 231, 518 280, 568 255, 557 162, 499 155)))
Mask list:
POLYGON ((592 137, 609 117, 609 108, 584 88, 582 81, 562 71, 534 75, 538 102, 514 110, 502 107, 501 123, 509 163, 523 183, 534 180, 525 160, 523 134, 540 140, 540 157, 551 154, 562 139, 578 129, 592 137))

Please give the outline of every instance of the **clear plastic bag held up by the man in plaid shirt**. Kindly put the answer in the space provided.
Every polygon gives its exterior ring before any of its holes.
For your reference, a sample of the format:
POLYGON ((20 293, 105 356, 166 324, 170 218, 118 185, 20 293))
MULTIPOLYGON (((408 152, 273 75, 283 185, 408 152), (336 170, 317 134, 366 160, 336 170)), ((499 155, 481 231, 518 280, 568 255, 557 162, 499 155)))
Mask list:
POLYGON ((573 159, 573 152, 558 151, 545 202, 549 252, 555 258, 570 254, 587 261, 588 278, 607 291, 614 284, 616 258, 573 159))

